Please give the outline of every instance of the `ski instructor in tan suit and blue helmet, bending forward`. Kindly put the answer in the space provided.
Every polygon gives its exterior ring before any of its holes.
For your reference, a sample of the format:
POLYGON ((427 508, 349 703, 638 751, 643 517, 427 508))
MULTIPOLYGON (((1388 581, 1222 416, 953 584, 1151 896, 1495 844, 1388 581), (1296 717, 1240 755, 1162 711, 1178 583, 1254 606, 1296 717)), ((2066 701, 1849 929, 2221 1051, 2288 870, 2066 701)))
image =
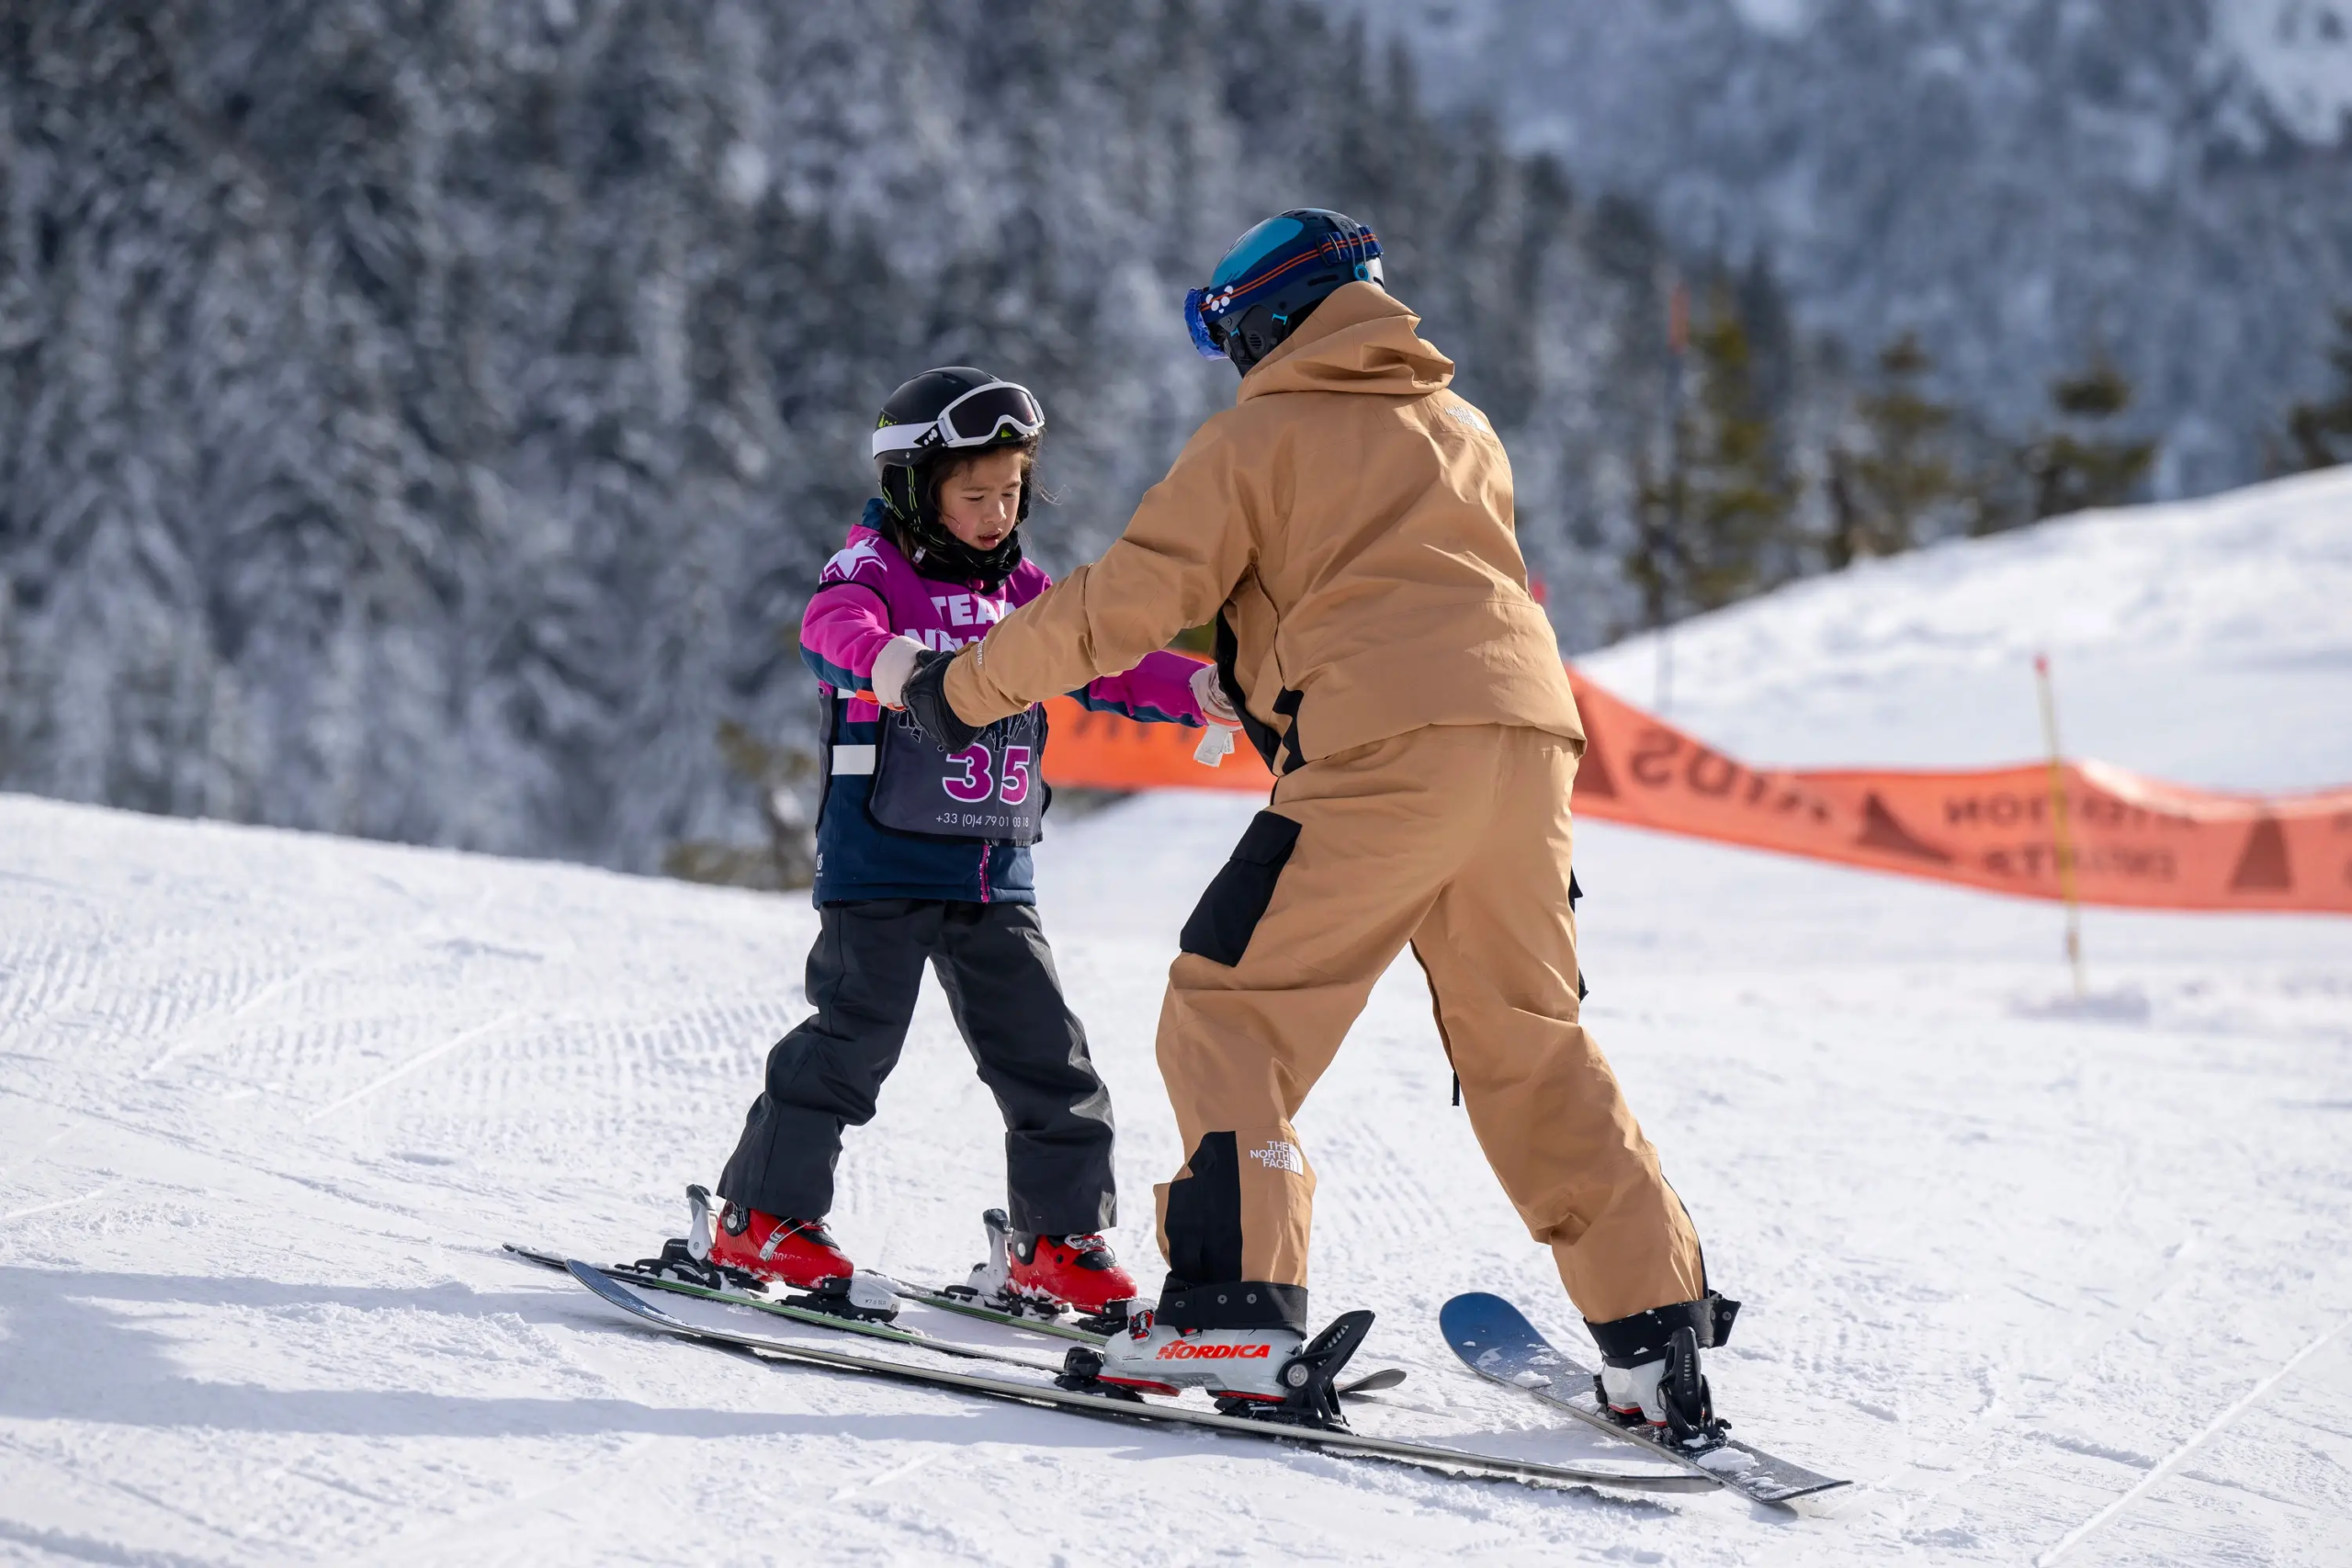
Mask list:
MULTIPOLYGON (((1242 371, 1103 559, 906 705, 950 748, 1216 618, 1223 696, 1277 783, 1185 922, 1160 1072, 1188 1159, 1160 1197, 1157 1312, 1103 1378, 1275 1401, 1308 1326, 1315 1173, 1291 1117, 1411 943, 1479 1147, 1604 1361, 1609 1406, 1712 1427, 1700 1347, 1733 1302, 1578 1023, 1576 698, 1512 536, 1510 463, 1454 362, 1383 292, 1362 223, 1294 209, 1185 299, 1242 371)), ((1663 1434, 1661 1432, 1661 1434, 1663 1434)))

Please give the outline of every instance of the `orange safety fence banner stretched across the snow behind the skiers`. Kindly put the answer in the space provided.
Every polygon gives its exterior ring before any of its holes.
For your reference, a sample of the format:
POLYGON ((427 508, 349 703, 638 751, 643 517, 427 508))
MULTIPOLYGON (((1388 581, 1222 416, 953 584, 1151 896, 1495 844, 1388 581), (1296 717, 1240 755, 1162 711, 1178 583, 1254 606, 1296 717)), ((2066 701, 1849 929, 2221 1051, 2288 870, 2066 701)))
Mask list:
MULTIPOLYGON (((1585 762, 1576 811, 1748 849, 2060 898, 2051 769, 1752 769, 1623 703, 1576 670, 1585 762)), ((1272 776, 1249 743, 1209 769, 1197 729, 1049 703, 1044 776, 1096 790, 1249 790, 1272 776)), ((2074 884, 2084 903, 2143 910, 2352 914, 2352 788, 2256 797, 2187 790, 2103 762, 2067 762, 2074 884)))

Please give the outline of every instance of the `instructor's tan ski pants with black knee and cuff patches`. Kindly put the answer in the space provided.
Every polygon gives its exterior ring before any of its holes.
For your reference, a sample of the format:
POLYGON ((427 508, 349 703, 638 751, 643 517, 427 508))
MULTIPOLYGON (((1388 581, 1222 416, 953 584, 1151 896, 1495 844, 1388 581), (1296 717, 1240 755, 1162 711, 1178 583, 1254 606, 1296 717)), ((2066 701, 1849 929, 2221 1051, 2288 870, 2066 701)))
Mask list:
POLYGON ((1291 1286, 1268 1295, 1303 1314, 1315 1171, 1291 1117, 1411 943, 1479 1147, 1576 1309, 1611 1321, 1703 1295, 1691 1220, 1576 1023, 1573 780, 1569 741, 1484 724, 1282 776, 1185 926, 1160 1011, 1190 1152, 1155 1190, 1171 1276, 1291 1286))

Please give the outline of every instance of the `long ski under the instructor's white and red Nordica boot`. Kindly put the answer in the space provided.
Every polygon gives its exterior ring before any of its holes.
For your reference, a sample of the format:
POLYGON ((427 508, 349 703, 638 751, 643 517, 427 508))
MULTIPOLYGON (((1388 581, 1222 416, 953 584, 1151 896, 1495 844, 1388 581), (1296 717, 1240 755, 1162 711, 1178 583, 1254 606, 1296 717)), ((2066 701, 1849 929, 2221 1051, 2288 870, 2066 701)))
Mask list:
POLYGON ((1322 1448, 1338 1455, 1376 1458, 1397 1465, 1414 1465, 1421 1469, 1435 1469, 1439 1474, 1468 1472, 1477 1476, 1505 1476, 1515 1481, 1564 1481, 1576 1486, 1611 1486, 1621 1490, 1644 1490, 1644 1493, 1703 1490, 1712 1483, 1689 1474, 1658 1474, 1658 1472, 1639 1474, 1618 1469, 1588 1469, 1581 1465, 1543 1465, 1538 1460, 1512 1460, 1496 1453, 1470 1453, 1463 1448, 1446 1448, 1442 1443, 1406 1443, 1383 1436, 1364 1436, 1359 1432, 1289 1427, 1277 1422, 1247 1420, 1240 1415, 1211 1415, 1207 1410, 1188 1410, 1181 1406, 1141 1403, 1141 1401, 1112 1399, 1105 1394, 1082 1394, 1054 1387, 1051 1382, 981 1378, 974 1373, 948 1373, 929 1366, 891 1361, 887 1356, 861 1356, 854 1352, 818 1349, 814 1345, 769 1340, 767 1335, 757 1333, 736 1333, 729 1328, 708 1328, 701 1324, 689 1324, 680 1316, 673 1316, 656 1302, 644 1300, 630 1288, 630 1284, 614 1279, 612 1274, 597 1269, 595 1265, 569 1260, 564 1267, 572 1274, 572 1279, 595 1291, 600 1300, 642 1324, 652 1324, 654 1328, 673 1333, 682 1340, 701 1340, 706 1345, 743 1349, 776 1361, 826 1366, 844 1373, 863 1373, 868 1378, 891 1378, 896 1382, 915 1382, 934 1389, 985 1394, 988 1399, 1007 1399, 1028 1406, 1049 1406, 1056 1410, 1073 1410, 1080 1415, 1096 1415, 1105 1420, 1127 1420, 1127 1422, 1162 1425, 1162 1427, 1195 1427, 1204 1432, 1230 1432, 1237 1436, 1270 1439, 1277 1443, 1301 1443, 1308 1448, 1322 1448))

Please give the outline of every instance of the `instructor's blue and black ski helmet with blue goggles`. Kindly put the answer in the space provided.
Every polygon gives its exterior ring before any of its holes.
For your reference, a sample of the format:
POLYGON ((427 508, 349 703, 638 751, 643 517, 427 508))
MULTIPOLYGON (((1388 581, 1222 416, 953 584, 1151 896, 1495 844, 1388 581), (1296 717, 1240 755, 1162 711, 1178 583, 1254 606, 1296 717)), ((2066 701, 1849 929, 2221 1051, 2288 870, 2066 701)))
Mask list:
POLYGON ((1381 240, 1345 212, 1291 207, 1232 242, 1207 289, 1183 296, 1204 360, 1249 367, 1348 282, 1381 282, 1381 240))

